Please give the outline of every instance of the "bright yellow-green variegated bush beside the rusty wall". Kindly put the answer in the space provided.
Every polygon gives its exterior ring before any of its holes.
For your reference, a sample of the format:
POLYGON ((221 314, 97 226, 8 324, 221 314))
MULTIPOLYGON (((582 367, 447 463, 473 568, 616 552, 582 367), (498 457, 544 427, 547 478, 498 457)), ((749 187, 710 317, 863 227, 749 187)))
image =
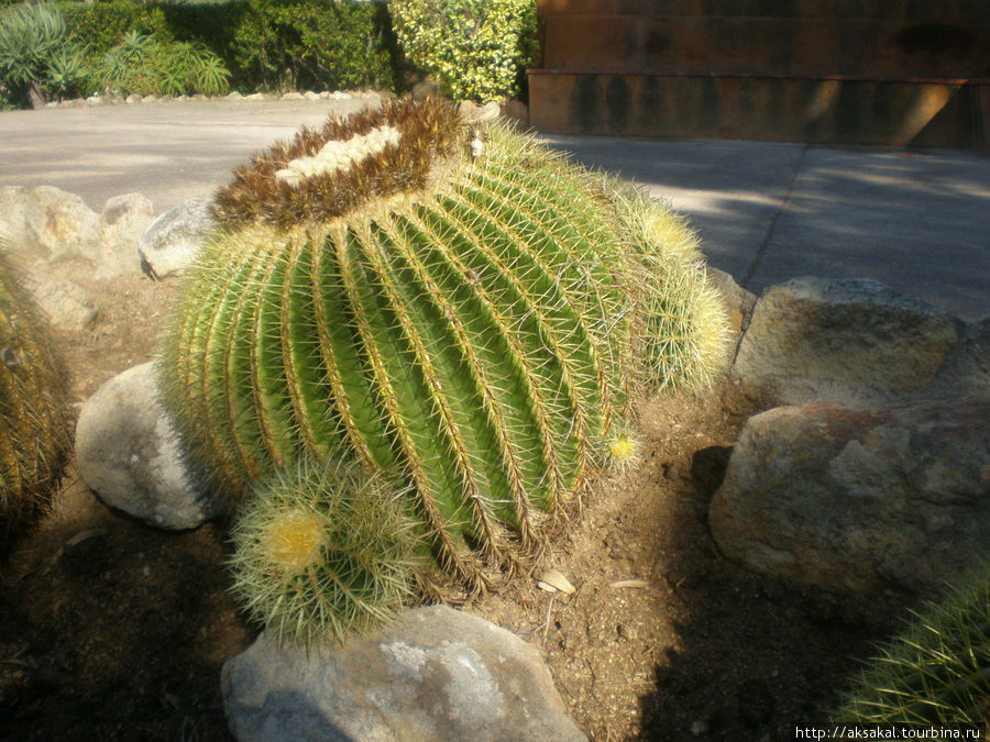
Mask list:
POLYGON ((534 0, 392 0, 399 44, 457 100, 504 100, 538 49, 534 0))

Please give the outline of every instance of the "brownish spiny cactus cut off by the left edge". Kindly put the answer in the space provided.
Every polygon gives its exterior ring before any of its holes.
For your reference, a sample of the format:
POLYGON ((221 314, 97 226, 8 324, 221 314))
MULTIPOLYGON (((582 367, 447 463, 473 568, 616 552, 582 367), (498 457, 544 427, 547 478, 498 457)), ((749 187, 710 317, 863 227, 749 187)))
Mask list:
POLYGON ((50 505, 70 446, 65 374, 0 254, 0 551, 50 505))

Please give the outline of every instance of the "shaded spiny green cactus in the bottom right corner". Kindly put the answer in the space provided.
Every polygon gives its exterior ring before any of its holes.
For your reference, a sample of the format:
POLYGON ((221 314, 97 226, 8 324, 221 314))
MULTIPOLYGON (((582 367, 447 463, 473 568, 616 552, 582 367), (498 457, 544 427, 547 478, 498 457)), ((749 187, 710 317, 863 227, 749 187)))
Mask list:
POLYGON ((834 716, 990 730, 990 564, 915 614, 860 673, 834 716))

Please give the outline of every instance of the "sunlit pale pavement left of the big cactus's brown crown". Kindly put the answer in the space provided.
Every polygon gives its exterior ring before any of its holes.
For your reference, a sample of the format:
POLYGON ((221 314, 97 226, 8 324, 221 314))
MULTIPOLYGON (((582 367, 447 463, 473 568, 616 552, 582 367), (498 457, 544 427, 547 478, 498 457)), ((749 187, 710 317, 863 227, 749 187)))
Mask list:
POLYGON ((206 101, 0 113, 0 185, 57 186, 99 211, 144 193, 158 211, 210 197, 231 169, 300 125, 365 104, 206 101))

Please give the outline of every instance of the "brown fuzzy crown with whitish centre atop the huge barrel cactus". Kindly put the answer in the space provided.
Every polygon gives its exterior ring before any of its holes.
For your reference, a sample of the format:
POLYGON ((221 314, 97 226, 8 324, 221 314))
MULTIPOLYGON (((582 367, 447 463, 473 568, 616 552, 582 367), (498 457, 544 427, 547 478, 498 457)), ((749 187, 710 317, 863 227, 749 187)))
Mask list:
POLYGON ((377 110, 304 128, 234 169, 213 214, 230 226, 326 223, 370 202, 422 190, 464 148, 454 106, 391 100, 377 110))

